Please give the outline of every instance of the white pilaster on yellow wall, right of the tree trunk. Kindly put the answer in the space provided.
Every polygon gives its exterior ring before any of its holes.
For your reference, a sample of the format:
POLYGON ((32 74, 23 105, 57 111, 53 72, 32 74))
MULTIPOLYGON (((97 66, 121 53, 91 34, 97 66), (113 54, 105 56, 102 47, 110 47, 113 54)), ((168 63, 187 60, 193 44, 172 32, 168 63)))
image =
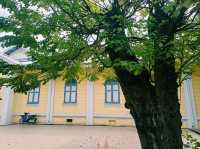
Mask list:
POLYGON ((192 88, 192 79, 184 81, 185 106, 187 110, 188 127, 197 128, 197 115, 192 88))

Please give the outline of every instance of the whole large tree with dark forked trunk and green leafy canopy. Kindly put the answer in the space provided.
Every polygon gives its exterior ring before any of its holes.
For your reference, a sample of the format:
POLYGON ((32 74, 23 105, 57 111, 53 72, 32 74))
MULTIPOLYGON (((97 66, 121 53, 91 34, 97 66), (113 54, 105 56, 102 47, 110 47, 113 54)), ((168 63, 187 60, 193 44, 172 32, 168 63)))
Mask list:
POLYGON ((2 45, 32 64, 0 62, 0 83, 115 75, 143 149, 182 149, 177 88, 199 62, 199 0, 1 0, 2 45), (184 74, 184 75, 182 75, 184 74), (80 77, 81 76, 81 77, 80 77))

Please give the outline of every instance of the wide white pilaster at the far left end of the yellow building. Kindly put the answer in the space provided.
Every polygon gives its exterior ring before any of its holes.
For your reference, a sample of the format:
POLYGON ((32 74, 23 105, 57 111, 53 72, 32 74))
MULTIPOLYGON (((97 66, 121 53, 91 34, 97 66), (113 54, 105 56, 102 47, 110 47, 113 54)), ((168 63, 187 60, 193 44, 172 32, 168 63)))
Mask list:
POLYGON ((12 106, 14 91, 11 87, 3 86, 3 102, 0 125, 9 125, 12 120, 12 106))

